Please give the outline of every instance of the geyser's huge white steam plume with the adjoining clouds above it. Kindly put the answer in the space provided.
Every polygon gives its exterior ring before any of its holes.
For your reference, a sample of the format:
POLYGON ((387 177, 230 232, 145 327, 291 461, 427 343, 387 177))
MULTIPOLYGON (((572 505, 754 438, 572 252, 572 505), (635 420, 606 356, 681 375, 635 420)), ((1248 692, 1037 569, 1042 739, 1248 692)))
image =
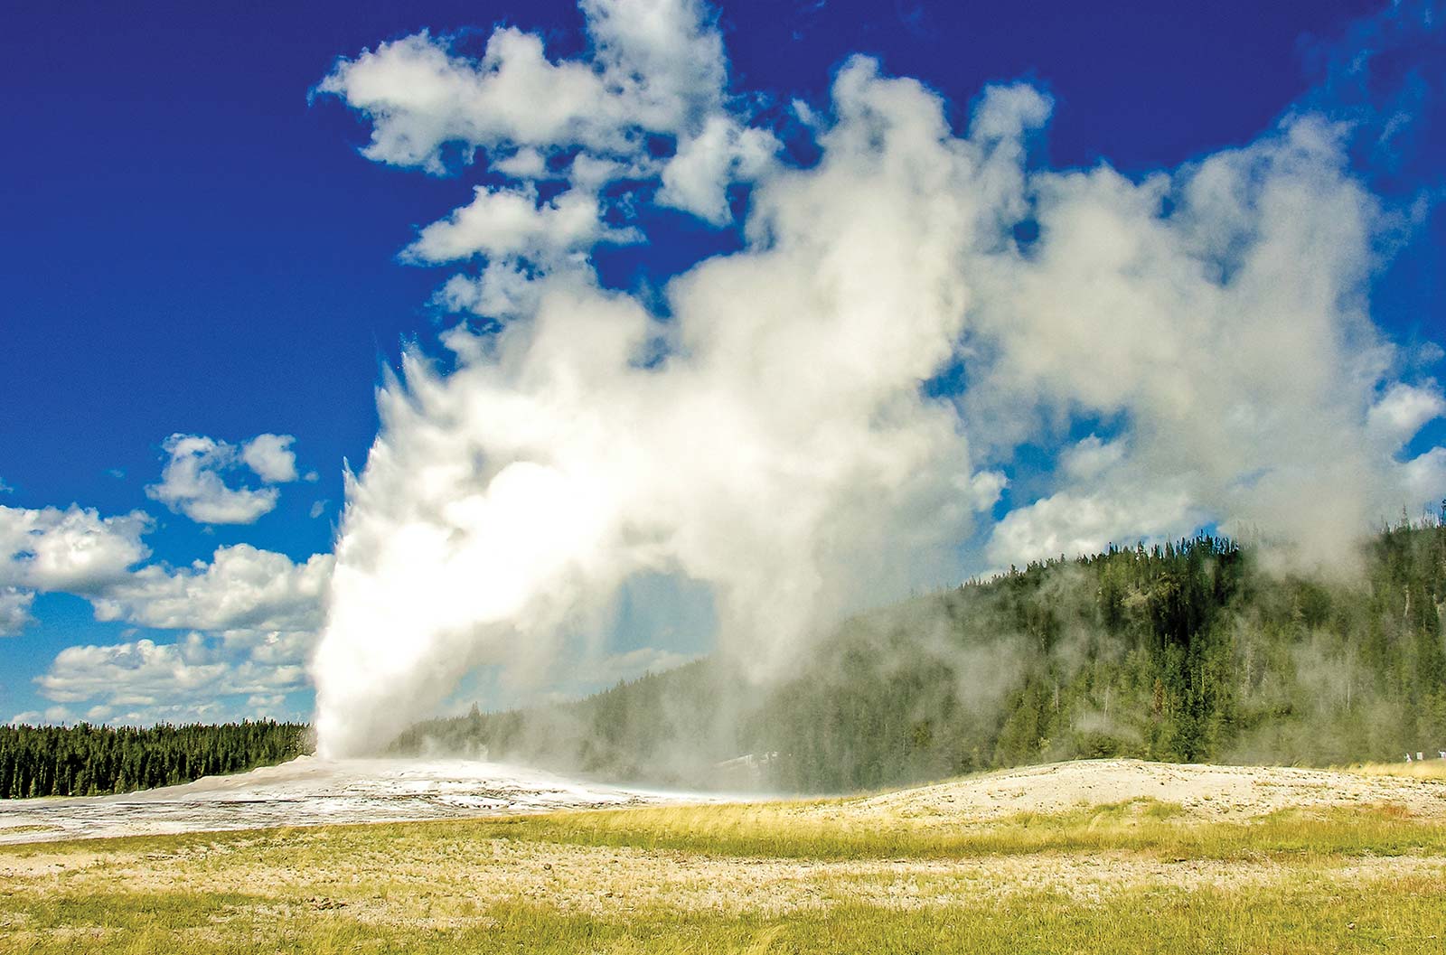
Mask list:
POLYGON ((409 351, 379 394, 312 663, 327 754, 476 666, 545 669, 641 575, 709 585, 720 650, 762 676, 842 613, 985 566, 960 550, 979 523, 995 566, 1210 522, 1320 561, 1446 491, 1446 451, 1401 457, 1446 402, 1369 318, 1401 222, 1348 129, 1290 116, 1144 181, 1035 170, 1035 90, 986 90, 956 136, 936 94, 856 58, 800 169, 726 95, 698 3, 583 10, 590 61, 424 33, 320 87, 372 120, 372 159, 441 172, 460 146, 516 181, 408 251, 476 260, 440 301, 503 324, 448 332, 451 367, 409 351), (735 182, 740 251, 661 302, 599 285, 587 251, 641 241, 639 209, 726 224, 735 182), (967 387, 931 397, 950 368, 967 387), (1014 449, 1077 420, 1106 436, 995 522, 1014 449))

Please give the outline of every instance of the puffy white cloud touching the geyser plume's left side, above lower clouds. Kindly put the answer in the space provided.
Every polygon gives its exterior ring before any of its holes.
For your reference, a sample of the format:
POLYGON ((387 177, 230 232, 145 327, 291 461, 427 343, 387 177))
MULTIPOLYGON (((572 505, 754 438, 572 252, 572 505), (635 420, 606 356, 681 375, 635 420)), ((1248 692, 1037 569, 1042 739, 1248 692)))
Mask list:
POLYGON ((93 598, 97 620, 166 630, 309 630, 321 624, 331 555, 292 563, 241 543, 189 569, 145 566, 93 598))

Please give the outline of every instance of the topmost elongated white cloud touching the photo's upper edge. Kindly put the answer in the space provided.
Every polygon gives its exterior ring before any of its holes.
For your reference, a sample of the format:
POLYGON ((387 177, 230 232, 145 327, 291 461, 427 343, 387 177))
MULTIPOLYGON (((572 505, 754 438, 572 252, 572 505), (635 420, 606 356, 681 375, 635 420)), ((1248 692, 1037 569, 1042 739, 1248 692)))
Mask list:
POLYGON ((499 27, 482 59, 418 33, 343 59, 317 90, 372 120, 369 159, 442 172, 442 147, 502 150, 536 175, 538 150, 638 152, 635 130, 683 133, 722 101, 722 39, 696 0, 589 0, 590 59, 552 62, 542 39, 499 27))

